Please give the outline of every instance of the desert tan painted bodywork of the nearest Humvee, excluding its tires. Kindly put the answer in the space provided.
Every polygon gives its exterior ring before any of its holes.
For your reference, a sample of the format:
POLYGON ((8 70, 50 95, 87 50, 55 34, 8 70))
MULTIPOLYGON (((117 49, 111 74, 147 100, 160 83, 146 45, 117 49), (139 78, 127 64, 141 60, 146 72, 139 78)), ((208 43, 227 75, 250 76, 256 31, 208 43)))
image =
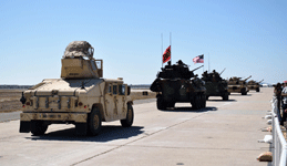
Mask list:
POLYGON ((122 79, 101 79, 102 66, 102 60, 62 59, 62 79, 43 80, 24 92, 27 102, 21 121, 85 123, 93 106, 100 108, 104 122, 124 120, 126 105, 132 103, 127 85, 122 79))

